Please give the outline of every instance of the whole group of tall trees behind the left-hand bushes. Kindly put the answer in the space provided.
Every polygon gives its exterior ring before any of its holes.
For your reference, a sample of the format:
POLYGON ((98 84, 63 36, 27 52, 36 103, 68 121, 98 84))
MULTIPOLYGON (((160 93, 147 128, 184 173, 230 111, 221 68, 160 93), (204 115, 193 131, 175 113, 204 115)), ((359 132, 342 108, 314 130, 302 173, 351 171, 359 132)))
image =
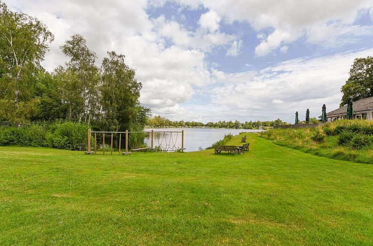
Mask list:
POLYGON ((125 56, 107 52, 97 67, 96 54, 76 34, 60 46, 69 61, 48 73, 42 62, 53 39, 45 24, 0 1, 0 121, 142 129, 150 110, 140 105, 142 85, 125 56))

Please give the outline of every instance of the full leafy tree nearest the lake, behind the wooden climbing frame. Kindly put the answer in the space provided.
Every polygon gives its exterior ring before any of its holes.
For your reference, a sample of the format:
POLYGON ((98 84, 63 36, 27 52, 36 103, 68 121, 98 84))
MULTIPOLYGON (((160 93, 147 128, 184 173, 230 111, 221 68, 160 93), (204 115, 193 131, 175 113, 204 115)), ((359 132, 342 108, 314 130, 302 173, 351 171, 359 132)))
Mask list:
POLYGON ((135 70, 124 62, 124 55, 107 52, 102 61, 102 128, 105 130, 139 129, 149 109, 139 102, 141 83, 135 70))

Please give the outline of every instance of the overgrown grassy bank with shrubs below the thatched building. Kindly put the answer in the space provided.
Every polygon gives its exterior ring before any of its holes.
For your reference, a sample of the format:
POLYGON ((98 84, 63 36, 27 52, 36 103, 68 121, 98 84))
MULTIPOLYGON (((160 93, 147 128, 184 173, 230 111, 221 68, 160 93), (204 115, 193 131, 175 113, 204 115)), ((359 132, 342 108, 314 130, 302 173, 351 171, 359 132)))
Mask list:
POLYGON ((373 122, 335 121, 318 128, 271 129, 259 135, 306 153, 373 164, 373 122))

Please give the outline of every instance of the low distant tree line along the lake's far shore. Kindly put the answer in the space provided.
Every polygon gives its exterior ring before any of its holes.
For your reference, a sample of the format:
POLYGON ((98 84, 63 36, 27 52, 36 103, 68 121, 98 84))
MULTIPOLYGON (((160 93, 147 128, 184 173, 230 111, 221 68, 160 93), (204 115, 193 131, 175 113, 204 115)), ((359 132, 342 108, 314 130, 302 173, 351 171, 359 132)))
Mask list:
POLYGON ((244 122, 241 123, 239 121, 219 121, 219 122, 208 122, 208 123, 200 123, 200 122, 185 122, 185 121, 170 121, 167 118, 161 117, 161 116, 155 116, 155 117, 149 117, 147 118, 146 125, 152 126, 152 127, 162 127, 162 126, 174 126, 174 127, 215 127, 215 128, 244 128, 244 129, 254 129, 258 128, 260 126, 267 126, 271 127, 274 125, 285 125, 288 124, 286 122, 281 121, 280 119, 277 119, 275 121, 256 121, 256 122, 244 122))

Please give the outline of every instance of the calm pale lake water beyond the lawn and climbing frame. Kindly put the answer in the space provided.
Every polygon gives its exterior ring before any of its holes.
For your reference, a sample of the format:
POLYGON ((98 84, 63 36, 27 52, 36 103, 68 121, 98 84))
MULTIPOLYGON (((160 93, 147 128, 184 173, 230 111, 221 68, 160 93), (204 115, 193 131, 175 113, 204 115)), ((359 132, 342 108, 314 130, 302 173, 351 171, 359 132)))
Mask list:
MULTIPOLYGON (((184 148, 186 152, 197 151, 199 147, 205 149, 219 139, 223 139, 225 134, 237 135, 240 132, 261 132, 262 130, 248 129, 215 129, 215 128, 146 128, 145 131, 182 131, 184 130, 184 148)), ((162 148, 180 149, 182 133, 154 133, 154 146, 162 148)), ((150 136, 145 138, 145 143, 150 146, 150 136)))

